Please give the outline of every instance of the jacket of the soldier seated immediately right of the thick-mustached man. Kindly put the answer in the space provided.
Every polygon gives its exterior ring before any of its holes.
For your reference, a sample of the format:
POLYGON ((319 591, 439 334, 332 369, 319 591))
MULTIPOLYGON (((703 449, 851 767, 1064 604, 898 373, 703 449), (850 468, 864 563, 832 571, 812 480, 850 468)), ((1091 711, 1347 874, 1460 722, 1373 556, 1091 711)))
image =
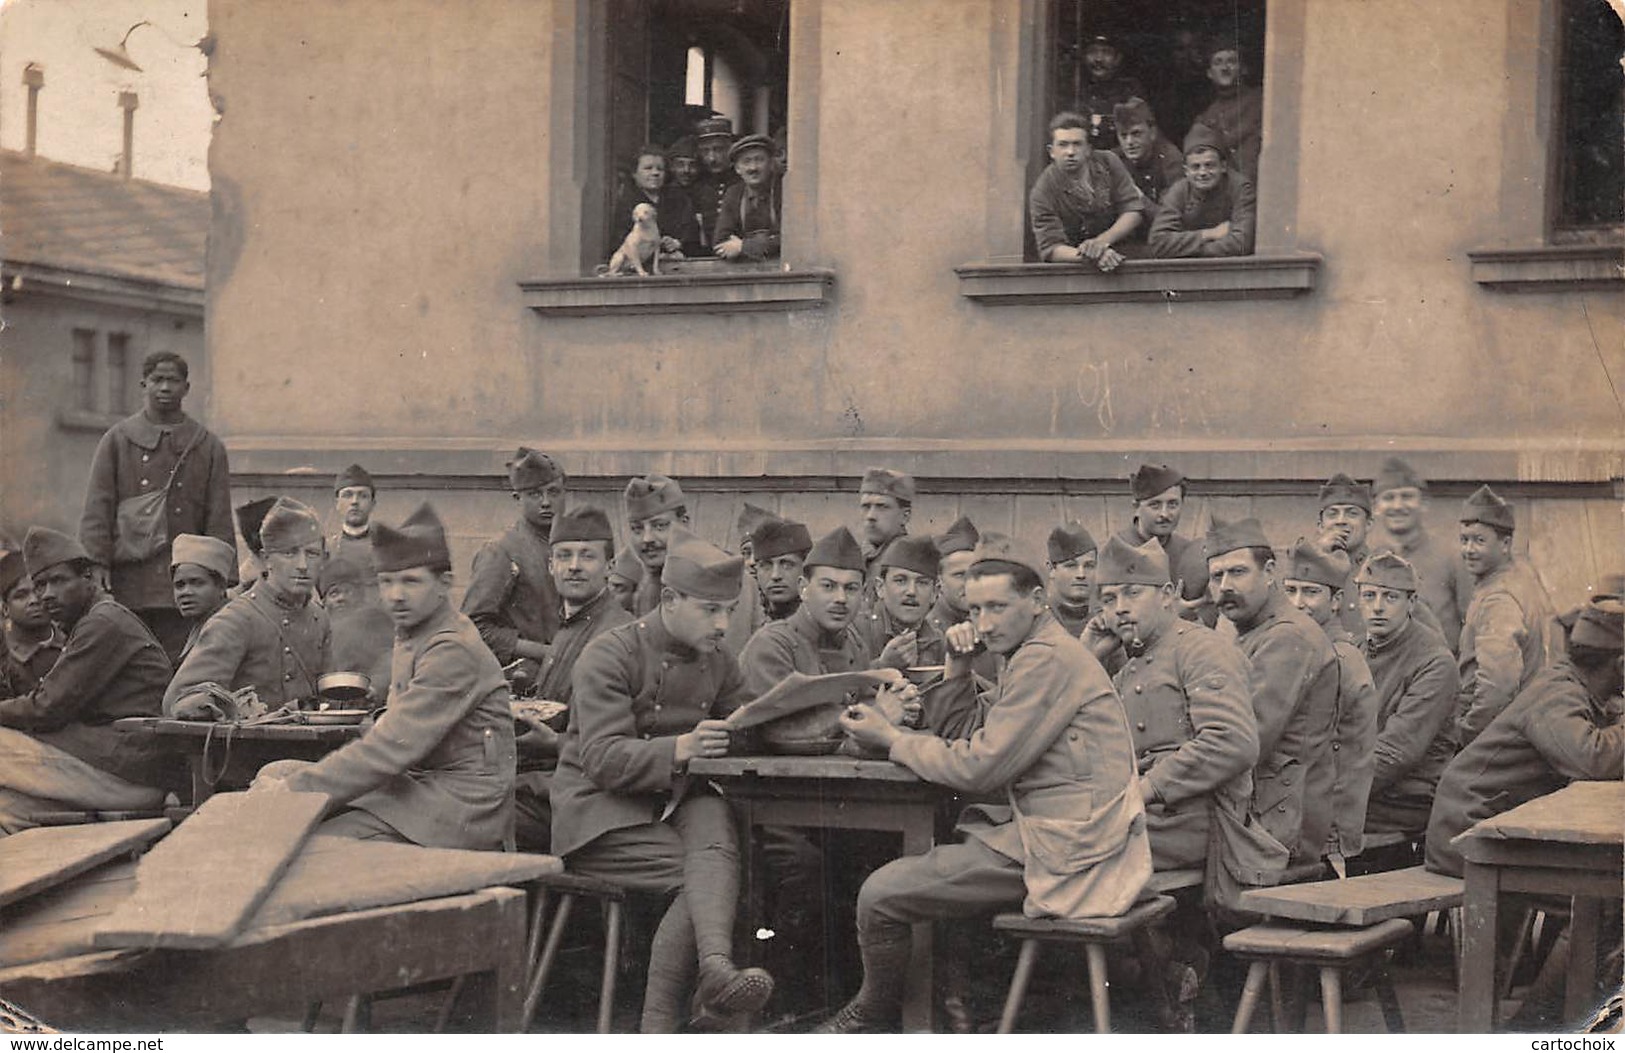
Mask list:
MULTIPOLYGON (((1365 847, 1365 806, 1372 796, 1372 751, 1376 746, 1376 686, 1354 637, 1336 624, 1331 648, 1337 655, 1337 707, 1331 726, 1329 764, 1311 769, 1310 800, 1331 795, 1326 853, 1358 855, 1365 847)), ((1310 809, 1313 814, 1315 809, 1310 809)), ((1313 830, 1305 830, 1305 842, 1313 830)))

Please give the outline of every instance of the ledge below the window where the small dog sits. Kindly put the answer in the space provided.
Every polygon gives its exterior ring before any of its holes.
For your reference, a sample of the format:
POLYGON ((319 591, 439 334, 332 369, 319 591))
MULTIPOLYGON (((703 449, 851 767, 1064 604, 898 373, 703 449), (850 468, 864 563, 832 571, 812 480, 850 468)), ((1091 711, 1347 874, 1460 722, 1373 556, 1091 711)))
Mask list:
POLYGON ((624 315, 806 310, 826 306, 835 271, 713 260, 668 265, 661 275, 522 281, 525 306, 543 315, 624 315))

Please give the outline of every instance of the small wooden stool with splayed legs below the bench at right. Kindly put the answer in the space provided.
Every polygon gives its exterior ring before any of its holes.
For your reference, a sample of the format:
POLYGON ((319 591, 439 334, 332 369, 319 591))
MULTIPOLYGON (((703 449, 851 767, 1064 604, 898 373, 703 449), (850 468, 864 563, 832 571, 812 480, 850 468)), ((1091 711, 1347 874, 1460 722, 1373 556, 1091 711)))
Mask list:
MULTIPOLYGON (((1386 947, 1410 938, 1410 921, 1389 918, 1357 930, 1305 930, 1285 925, 1254 925, 1224 938, 1224 947, 1238 959, 1251 960, 1246 970, 1246 986, 1242 1004, 1235 1011, 1233 1035, 1245 1035, 1253 1022, 1253 1011, 1264 993, 1266 975, 1277 983, 1277 965, 1315 965, 1321 978, 1321 1006, 1326 1011, 1326 1034, 1342 1034, 1342 973, 1386 947)), ((1277 983, 1279 986, 1279 983, 1277 983)), ((1383 1004, 1383 1020, 1388 1030, 1406 1030, 1399 1016, 1399 998, 1394 994, 1388 967, 1376 962, 1376 998, 1383 1004)), ((1279 1001, 1279 994, 1277 994, 1279 1001)))

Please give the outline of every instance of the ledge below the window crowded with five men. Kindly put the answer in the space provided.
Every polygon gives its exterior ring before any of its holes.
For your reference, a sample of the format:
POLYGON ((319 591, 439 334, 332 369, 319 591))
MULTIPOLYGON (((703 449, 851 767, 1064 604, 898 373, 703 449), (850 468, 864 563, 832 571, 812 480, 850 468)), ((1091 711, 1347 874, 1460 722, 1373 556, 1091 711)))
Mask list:
POLYGON ((959 294, 983 304, 1129 304, 1289 299, 1315 289, 1315 252, 1212 260, 1126 260, 1110 275, 1077 263, 965 263, 959 294))

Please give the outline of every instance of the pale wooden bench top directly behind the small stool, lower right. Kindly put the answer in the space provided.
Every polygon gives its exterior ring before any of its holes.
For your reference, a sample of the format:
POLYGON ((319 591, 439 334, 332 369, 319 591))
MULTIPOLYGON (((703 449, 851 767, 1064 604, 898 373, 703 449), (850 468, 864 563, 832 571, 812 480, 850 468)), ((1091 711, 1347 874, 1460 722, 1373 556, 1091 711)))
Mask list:
POLYGON ((1242 894, 1242 908, 1294 921, 1367 926, 1456 907, 1461 897, 1461 878, 1412 866, 1342 881, 1250 889, 1242 894))

